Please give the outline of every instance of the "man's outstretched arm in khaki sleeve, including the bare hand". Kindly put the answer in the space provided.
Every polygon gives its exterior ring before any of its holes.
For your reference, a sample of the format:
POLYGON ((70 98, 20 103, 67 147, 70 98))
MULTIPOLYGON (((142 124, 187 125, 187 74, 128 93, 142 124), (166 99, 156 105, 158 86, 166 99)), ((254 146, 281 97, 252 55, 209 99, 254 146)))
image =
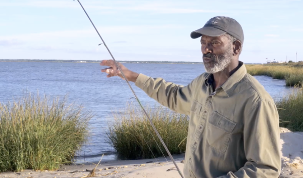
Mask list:
MULTIPOLYGON (((119 76, 124 79, 121 71, 113 60, 103 60, 100 65, 109 66, 101 70, 101 72, 108 74, 107 77, 119 76)), ((163 78, 151 78, 143 74, 138 74, 127 69, 121 63, 118 63, 118 65, 124 73, 125 78, 128 81, 135 82, 136 86, 141 88, 149 97, 173 111, 181 114, 190 114, 195 80, 187 86, 183 86, 166 82, 163 78)))

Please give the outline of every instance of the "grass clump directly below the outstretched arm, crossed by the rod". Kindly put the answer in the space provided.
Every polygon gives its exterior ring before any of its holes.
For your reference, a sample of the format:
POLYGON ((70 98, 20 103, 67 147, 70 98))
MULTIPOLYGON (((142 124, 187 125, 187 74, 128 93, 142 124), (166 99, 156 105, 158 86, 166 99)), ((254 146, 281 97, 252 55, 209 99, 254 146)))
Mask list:
MULTIPOLYGON (((184 152, 188 116, 172 112, 163 106, 147 106, 144 109, 170 153, 184 152)), ((121 159, 146 159, 168 155, 141 109, 137 111, 129 105, 124 111, 115 112, 114 118, 107 132, 107 141, 116 149, 121 159)))

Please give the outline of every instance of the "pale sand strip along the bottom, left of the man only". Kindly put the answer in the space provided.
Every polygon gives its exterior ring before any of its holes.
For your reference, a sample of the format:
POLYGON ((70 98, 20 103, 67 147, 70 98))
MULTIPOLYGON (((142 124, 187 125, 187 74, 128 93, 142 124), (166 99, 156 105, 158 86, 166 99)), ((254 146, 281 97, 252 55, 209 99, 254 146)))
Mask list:
MULTIPOLYGON (((181 161, 184 155, 174 156, 178 167, 183 170, 181 161)), ((180 177, 170 158, 144 159, 144 160, 121 160, 101 162, 96 168, 96 177, 180 177), (166 161, 168 160, 168 162, 166 161), (147 163, 151 162, 151 163, 147 163), (168 169, 172 169, 167 171, 168 169), (105 170, 107 169, 107 170, 105 170)), ((97 163, 96 163, 97 164, 97 163)), ((95 167, 94 164, 63 166, 59 171, 31 171, 3 172, 0 177, 82 177, 88 175, 89 171, 95 167), (18 175, 17 175, 18 174, 18 175)))

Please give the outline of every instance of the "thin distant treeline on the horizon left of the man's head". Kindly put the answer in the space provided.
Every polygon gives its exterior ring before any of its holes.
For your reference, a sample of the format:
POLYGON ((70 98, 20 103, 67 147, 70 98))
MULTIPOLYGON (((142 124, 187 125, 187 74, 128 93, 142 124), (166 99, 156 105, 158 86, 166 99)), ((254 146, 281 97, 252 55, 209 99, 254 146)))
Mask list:
MULTIPOLYGON (((95 60, 58 60, 58 59, 0 59, 0 62, 85 62, 99 63, 95 60)), ((159 64, 203 64, 203 62, 189 61, 117 61, 121 63, 159 63, 159 64)))

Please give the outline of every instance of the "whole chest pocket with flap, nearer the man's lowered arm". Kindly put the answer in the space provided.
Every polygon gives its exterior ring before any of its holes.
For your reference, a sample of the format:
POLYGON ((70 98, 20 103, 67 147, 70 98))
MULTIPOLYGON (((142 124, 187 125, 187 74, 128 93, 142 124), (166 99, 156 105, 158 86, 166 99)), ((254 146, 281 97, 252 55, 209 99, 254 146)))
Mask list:
POLYGON ((207 128, 207 144, 219 153, 225 153, 236 122, 214 111, 207 128))

